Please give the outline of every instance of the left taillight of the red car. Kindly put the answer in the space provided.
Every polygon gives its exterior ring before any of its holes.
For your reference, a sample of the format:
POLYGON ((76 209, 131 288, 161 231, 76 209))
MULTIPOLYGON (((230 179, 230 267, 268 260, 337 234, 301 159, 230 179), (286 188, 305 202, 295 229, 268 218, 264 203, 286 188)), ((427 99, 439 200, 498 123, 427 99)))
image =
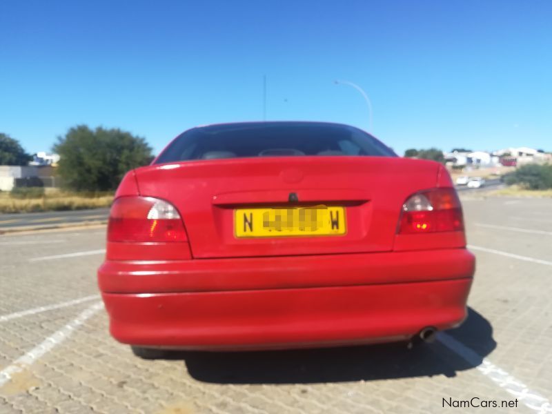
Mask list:
POLYGON ((109 242, 186 242, 175 206, 153 197, 119 197, 111 206, 109 242))

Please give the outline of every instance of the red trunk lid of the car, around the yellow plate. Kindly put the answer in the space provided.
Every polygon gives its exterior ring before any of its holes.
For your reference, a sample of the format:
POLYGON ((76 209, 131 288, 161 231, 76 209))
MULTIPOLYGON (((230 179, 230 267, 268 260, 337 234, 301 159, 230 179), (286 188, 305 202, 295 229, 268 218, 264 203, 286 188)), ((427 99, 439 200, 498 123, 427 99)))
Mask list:
POLYGON ((438 169, 398 157, 258 157, 153 165, 136 177, 141 195, 179 210, 202 259, 392 250, 404 200, 435 187, 438 169), (345 233, 236 236, 236 210, 312 206, 344 208, 345 233))

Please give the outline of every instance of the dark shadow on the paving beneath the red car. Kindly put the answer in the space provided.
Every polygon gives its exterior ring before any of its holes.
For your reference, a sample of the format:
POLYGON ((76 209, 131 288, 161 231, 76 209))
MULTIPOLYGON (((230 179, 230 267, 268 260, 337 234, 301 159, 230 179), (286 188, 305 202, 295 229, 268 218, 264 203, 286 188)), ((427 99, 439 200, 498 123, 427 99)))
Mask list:
MULTIPOLYGON (((442 334, 440 334, 442 335, 442 334)), ((469 308, 462 326, 449 331, 457 342, 485 357, 496 347, 493 328, 480 313, 469 308)), ((195 380, 218 384, 308 384, 383 380, 446 375, 473 368, 444 346, 433 344, 377 344, 342 348, 255 352, 173 352, 169 359, 184 359, 195 380)))

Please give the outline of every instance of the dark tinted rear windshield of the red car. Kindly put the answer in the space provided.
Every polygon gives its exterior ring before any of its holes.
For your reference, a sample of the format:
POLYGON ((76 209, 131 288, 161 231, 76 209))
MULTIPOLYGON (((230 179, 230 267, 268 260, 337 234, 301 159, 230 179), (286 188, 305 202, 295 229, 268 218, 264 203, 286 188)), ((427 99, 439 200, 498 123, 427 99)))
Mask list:
POLYGON ((393 150, 352 126, 265 122, 193 128, 177 137, 155 164, 191 159, 304 155, 396 157, 393 150))

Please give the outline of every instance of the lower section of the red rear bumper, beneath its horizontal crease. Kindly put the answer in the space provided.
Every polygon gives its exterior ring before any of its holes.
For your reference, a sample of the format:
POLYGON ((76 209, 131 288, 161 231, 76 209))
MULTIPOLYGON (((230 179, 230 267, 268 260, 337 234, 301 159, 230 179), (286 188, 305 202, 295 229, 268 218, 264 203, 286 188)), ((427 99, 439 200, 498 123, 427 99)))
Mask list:
POLYGON ((103 293, 120 342, 237 350, 366 344, 408 339, 466 317, 470 278, 367 286, 159 293, 103 293))

